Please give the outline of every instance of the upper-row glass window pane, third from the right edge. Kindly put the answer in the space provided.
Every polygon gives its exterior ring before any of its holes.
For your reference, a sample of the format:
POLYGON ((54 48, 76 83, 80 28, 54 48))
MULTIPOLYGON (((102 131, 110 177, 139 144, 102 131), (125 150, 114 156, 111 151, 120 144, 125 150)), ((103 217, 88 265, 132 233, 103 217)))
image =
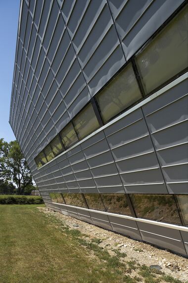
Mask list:
POLYGON ((98 120, 96 119, 92 104, 88 104, 78 116, 74 118, 75 130, 78 134, 79 140, 84 139, 86 136, 99 128, 98 120))

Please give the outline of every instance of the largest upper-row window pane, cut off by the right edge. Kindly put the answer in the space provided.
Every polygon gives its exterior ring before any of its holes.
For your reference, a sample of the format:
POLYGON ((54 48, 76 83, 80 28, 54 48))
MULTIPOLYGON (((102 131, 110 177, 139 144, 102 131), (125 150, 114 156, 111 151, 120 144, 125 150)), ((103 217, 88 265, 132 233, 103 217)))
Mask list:
POLYGON ((136 57, 145 90, 151 90, 188 67, 188 6, 136 57))

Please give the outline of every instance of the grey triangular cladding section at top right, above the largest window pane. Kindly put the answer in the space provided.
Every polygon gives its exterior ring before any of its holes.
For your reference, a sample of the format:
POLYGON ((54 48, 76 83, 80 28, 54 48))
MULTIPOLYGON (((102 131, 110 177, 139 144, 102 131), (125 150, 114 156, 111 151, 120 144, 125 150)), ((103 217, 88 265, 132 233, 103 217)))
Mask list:
POLYGON ((129 60, 184 0, 107 0, 129 60))

